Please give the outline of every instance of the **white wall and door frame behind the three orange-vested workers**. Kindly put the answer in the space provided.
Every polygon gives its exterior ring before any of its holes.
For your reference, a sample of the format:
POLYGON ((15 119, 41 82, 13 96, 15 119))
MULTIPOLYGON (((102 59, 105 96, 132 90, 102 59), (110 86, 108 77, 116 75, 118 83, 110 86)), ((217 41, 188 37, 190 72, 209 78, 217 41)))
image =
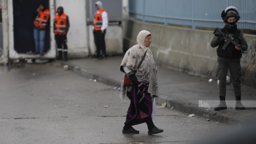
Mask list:
MULTIPOLYGON (((54 59, 56 57, 56 44, 53 33, 53 21, 56 9, 60 6, 64 8, 64 13, 68 15, 70 20, 70 29, 67 35, 68 57, 85 58, 90 54, 95 54, 96 47, 93 30, 91 25, 88 24, 86 10, 88 9, 88 1, 91 0, 49 0, 49 10, 51 11, 50 48, 43 57, 33 54, 20 54, 14 50, 13 1, 17 0, 1 0, 3 14, 3 55, 0 57, 0 63, 8 63, 9 59, 54 59)), ((106 31, 105 41, 108 55, 123 53, 122 28, 120 24, 111 24, 110 22, 106 31)))

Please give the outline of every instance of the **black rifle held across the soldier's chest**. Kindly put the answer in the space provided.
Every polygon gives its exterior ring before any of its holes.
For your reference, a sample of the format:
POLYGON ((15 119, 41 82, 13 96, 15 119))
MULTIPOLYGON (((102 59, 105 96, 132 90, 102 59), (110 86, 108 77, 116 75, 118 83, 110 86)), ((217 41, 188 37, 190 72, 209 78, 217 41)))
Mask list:
MULTIPOLYGON (((221 29, 219 29, 218 27, 215 29, 215 31, 213 32, 213 34, 217 34, 217 35, 223 35, 223 39, 226 40, 226 43, 223 45, 223 50, 226 49, 226 46, 228 46, 230 43, 232 43, 234 46, 237 46, 240 50, 242 50, 242 47, 239 46, 235 41, 234 41, 234 37, 233 34, 228 34, 228 33, 223 33, 223 31, 221 31, 221 29)), ((244 50, 242 50, 242 53, 244 54, 244 50)))

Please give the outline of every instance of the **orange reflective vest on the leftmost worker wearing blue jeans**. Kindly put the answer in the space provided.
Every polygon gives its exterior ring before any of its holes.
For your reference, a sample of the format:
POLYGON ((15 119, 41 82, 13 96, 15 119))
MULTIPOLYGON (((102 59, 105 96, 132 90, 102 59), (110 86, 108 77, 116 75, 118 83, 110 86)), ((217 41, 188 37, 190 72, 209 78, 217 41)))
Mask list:
POLYGON ((37 27, 45 28, 50 17, 50 10, 46 9, 45 11, 40 10, 35 18, 33 24, 37 27))

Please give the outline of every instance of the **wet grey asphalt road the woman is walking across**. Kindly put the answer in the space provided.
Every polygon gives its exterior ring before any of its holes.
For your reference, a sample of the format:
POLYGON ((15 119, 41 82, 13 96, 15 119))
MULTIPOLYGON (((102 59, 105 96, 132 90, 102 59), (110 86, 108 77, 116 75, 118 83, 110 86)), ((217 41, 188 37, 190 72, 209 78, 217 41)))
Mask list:
POLYGON ((163 133, 122 134, 129 100, 112 86, 46 63, 0 67, 0 79, 0 143, 190 143, 227 127, 157 108, 163 133))

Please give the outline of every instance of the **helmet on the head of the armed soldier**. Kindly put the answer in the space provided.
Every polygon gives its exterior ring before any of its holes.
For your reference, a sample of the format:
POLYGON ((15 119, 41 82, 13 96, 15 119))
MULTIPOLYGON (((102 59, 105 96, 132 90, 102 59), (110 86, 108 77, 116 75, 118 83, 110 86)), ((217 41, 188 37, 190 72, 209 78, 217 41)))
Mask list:
POLYGON ((223 18, 224 23, 228 23, 228 18, 235 17, 236 22, 241 18, 238 12, 238 9, 234 6, 227 7, 223 12, 221 13, 221 17, 223 18))

